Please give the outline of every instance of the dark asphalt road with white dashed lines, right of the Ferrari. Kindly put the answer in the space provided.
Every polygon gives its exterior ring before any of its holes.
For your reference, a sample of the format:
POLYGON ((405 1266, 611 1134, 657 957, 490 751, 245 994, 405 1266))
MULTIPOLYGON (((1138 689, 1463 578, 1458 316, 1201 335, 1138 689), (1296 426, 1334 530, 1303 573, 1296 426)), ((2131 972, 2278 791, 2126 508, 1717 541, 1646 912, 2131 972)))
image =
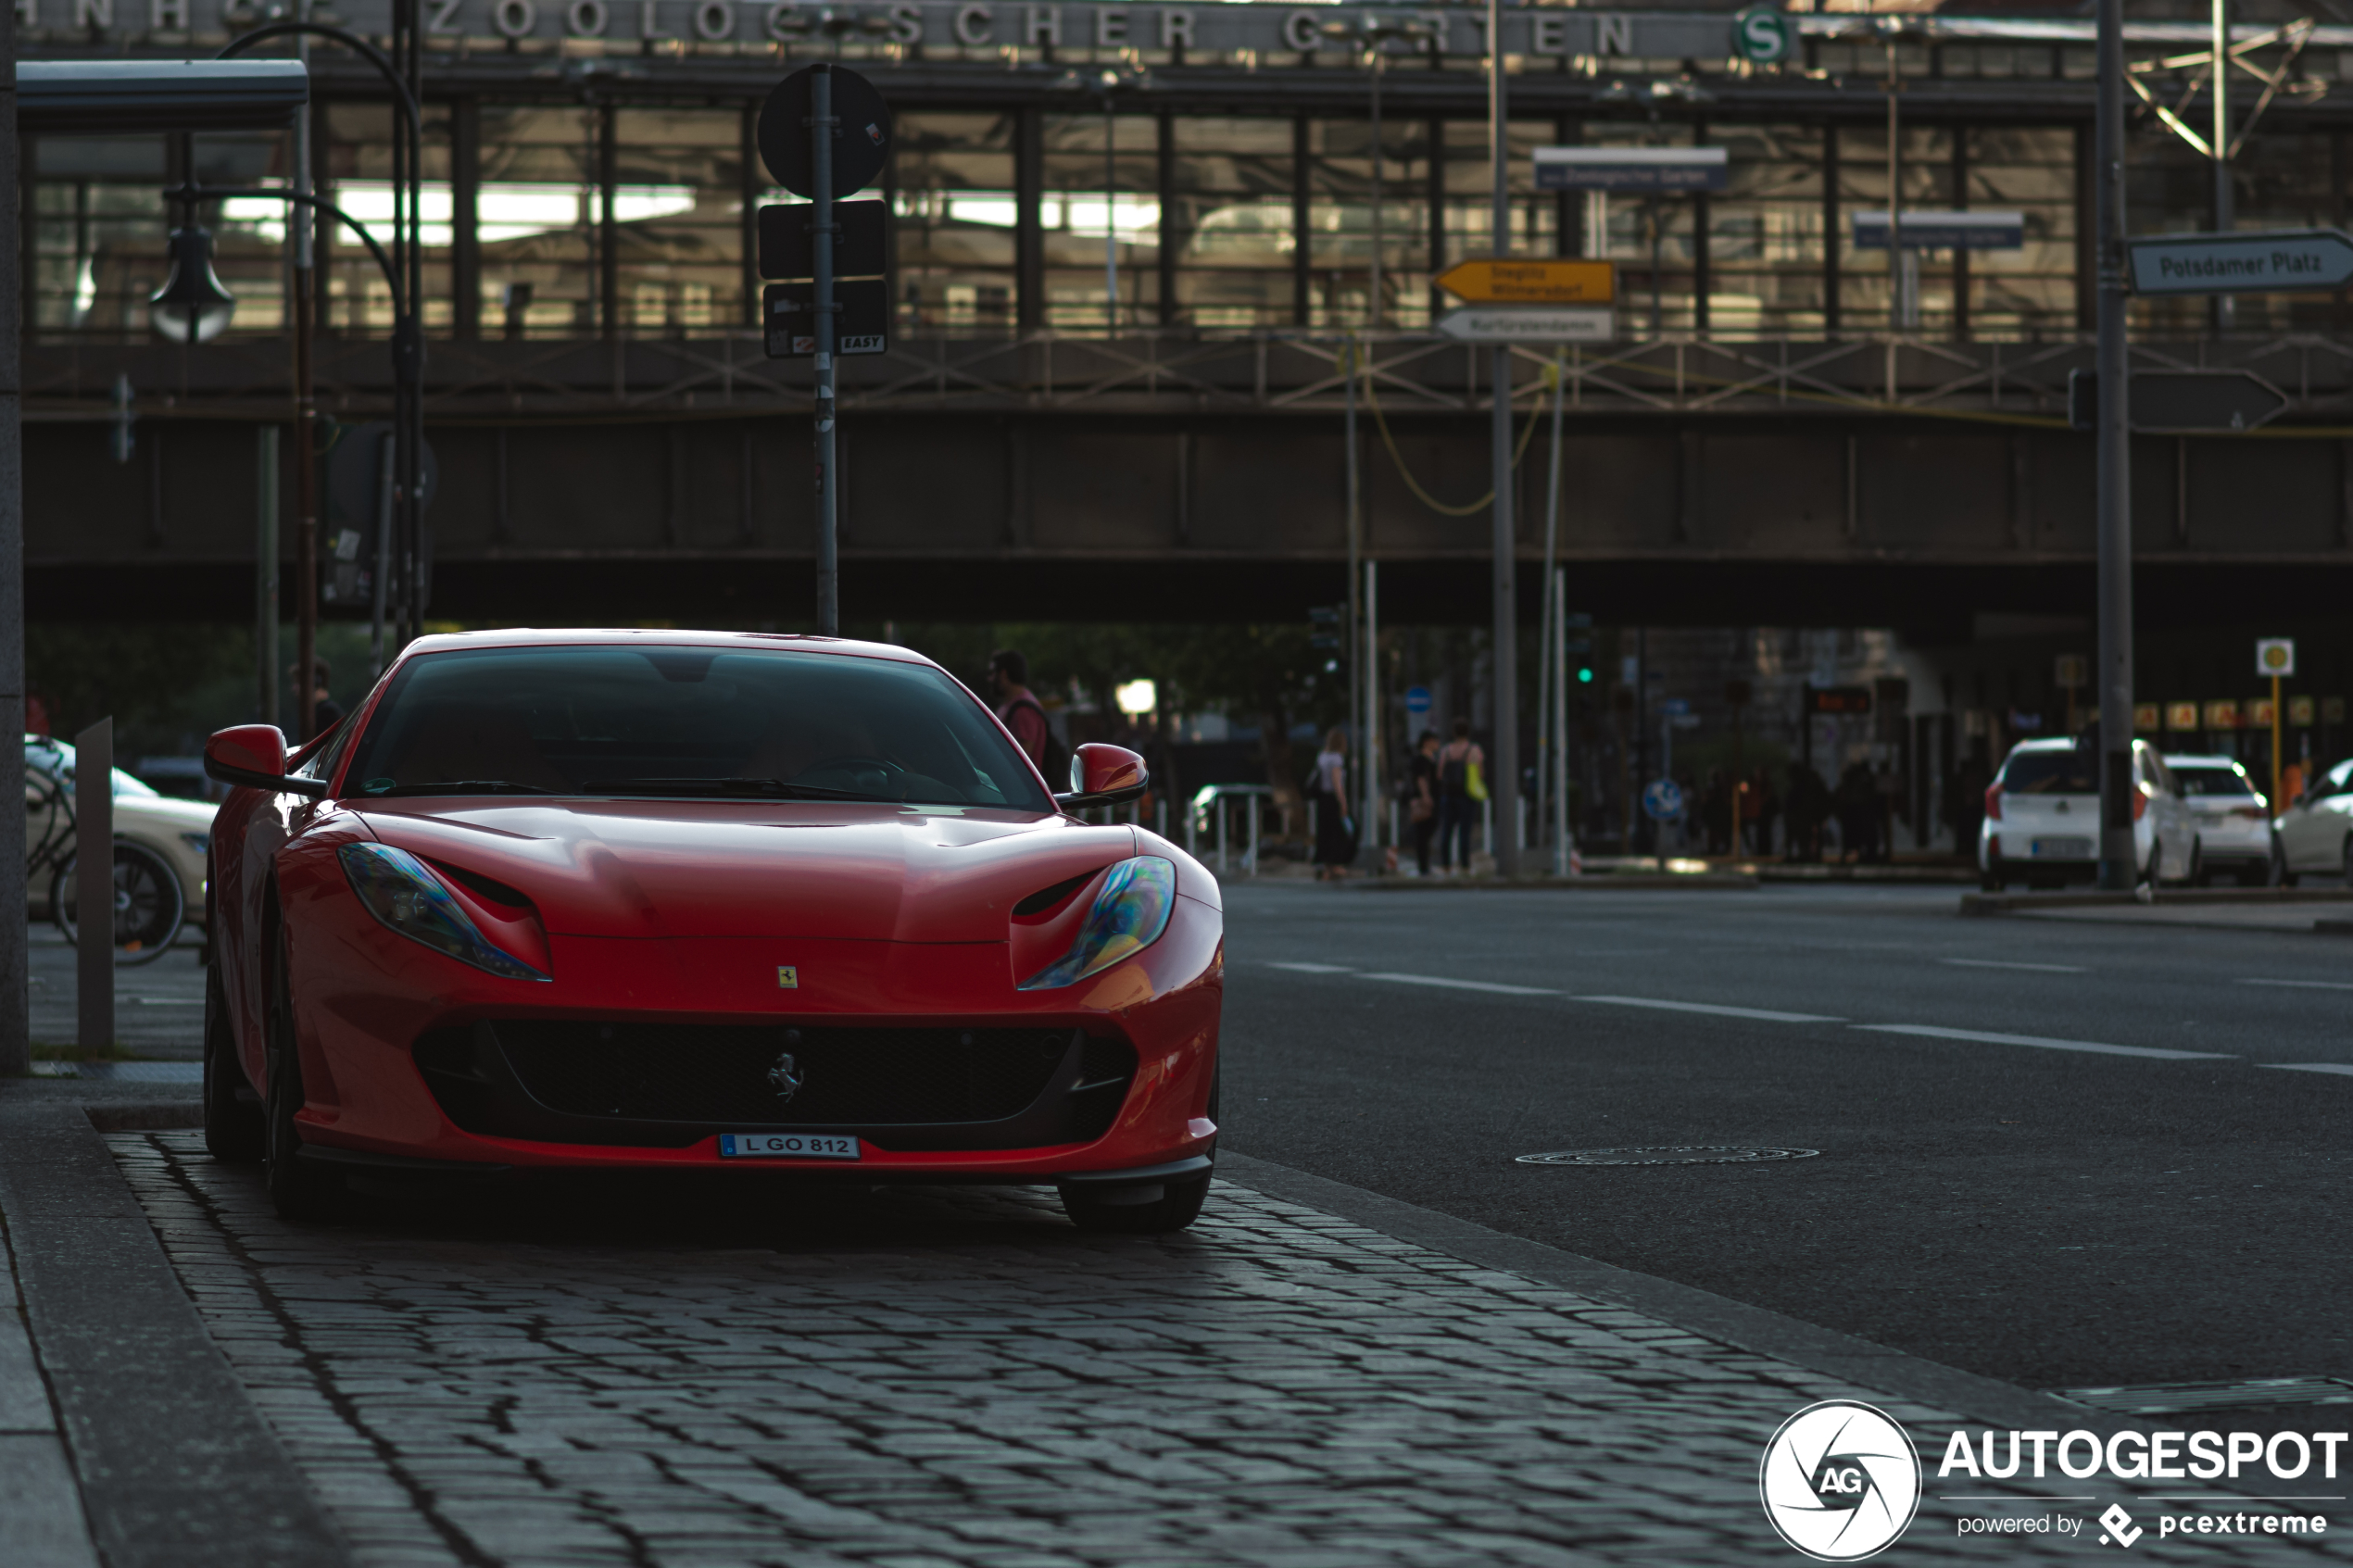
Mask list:
POLYGON ((1955 907, 1231 886, 1224 1143, 2026 1387, 2353 1380, 2353 938, 1955 907), (1638 1145, 1819 1157, 1513 1159, 1638 1145))

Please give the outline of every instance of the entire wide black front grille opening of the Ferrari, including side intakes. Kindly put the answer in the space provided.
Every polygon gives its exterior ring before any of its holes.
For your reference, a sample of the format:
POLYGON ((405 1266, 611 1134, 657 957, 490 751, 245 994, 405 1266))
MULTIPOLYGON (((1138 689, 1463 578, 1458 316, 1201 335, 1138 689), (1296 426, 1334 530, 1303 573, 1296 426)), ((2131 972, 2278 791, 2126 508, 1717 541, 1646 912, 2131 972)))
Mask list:
POLYGON ((835 1128, 896 1150, 1087 1143, 1136 1056, 1078 1030, 506 1018, 435 1030, 416 1065, 466 1131, 682 1147, 713 1131, 835 1128))

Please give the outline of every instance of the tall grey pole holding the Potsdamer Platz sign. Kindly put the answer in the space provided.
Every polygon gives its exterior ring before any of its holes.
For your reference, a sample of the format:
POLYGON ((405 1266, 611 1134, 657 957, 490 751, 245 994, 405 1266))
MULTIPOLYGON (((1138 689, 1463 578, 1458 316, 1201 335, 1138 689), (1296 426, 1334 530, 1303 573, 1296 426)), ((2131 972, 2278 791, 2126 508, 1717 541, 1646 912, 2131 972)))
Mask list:
POLYGON ((2139 879, 2132 842, 2132 383, 2125 360, 2125 0, 2099 0, 2099 884, 2139 879))

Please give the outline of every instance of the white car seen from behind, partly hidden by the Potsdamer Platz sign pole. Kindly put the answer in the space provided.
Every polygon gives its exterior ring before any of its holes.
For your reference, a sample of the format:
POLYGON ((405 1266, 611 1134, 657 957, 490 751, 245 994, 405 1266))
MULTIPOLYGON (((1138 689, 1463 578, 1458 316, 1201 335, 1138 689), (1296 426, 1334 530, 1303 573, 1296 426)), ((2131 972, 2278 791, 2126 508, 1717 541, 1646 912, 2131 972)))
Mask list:
MULTIPOLYGON (((2132 844, 2141 882, 2186 882, 2202 867, 2198 825, 2165 757, 2132 743, 2132 844)), ((2099 755, 2073 741, 2021 741, 1986 788, 1977 870, 1988 893, 2012 882, 2099 879, 2099 755)))

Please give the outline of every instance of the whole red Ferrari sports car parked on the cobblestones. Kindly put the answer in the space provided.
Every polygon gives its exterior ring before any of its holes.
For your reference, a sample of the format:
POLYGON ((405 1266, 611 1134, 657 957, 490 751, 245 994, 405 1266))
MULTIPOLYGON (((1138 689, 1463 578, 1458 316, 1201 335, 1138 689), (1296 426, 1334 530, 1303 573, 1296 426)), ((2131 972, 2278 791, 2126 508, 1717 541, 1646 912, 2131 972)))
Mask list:
POLYGON ((287 757, 224 729, 205 1135, 280 1213, 353 1173, 1052 1182, 1089 1229, 1200 1213, 1224 914, 1052 792, 932 661, 833 637, 409 644, 287 757))

